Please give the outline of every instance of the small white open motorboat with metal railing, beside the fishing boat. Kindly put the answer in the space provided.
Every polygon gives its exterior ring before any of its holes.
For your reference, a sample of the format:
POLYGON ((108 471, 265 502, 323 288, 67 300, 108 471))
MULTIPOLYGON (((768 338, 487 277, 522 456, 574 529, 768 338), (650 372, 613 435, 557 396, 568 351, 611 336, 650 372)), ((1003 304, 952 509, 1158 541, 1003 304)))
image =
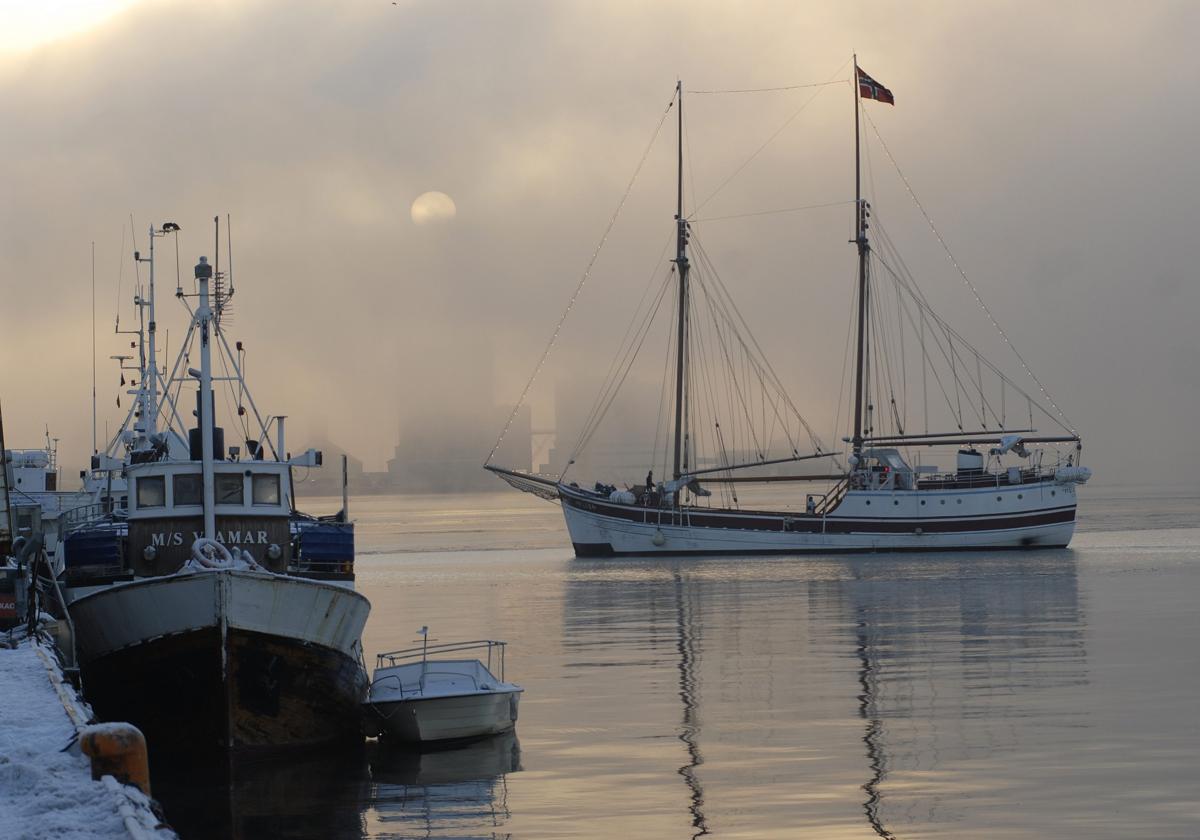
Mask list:
POLYGON ((428 644, 426 638, 418 648, 379 654, 364 703, 367 734, 430 743, 512 730, 524 689, 504 682, 504 648, 491 640, 428 644))

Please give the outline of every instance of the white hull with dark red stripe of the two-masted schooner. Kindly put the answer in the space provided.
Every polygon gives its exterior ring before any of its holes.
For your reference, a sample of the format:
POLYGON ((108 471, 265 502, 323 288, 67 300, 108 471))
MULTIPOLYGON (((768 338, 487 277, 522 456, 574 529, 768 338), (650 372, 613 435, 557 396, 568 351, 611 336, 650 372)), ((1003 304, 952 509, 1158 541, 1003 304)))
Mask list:
POLYGON ((1064 547, 1075 530, 1075 487, 1054 481, 850 491, 823 516, 623 505, 558 490, 580 557, 1064 547))

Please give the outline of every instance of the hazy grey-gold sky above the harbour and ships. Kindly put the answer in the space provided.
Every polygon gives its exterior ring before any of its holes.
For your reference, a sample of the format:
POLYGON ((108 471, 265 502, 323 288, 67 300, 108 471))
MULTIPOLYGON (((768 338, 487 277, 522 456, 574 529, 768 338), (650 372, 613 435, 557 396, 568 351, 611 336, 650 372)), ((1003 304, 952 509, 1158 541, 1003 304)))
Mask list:
MULTIPOLYGON (((122 326, 133 318, 130 215, 143 250, 151 222, 182 227, 188 276, 228 212, 230 332, 258 403, 294 418, 293 449, 326 433, 379 469, 412 406, 469 410, 520 392, 677 77, 700 90, 824 82, 857 49, 896 95, 872 119, 1084 434, 1097 479, 1194 486, 1198 26, 1190 2, 6 0, 7 443, 36 445, 49 424, 68 464, 90 449, 91 242, 103 431, 120 416, 107 361, 122 348, 118 304, 122 326), (456 215, 416 224, 410 205, 431 191, 456 215)), ((812 94, 689 96, 689 204, 812 94)), ((852 114, 848 86, 823 89, 697 217, 852 198, 852 114)), ((557 378, 608 365, 671 234, 671 139, 647 161, 535 412, 557 378)), ((870 192, 908 266, 986 344, 890 164, 870 154, 870 192)), ((826 439, 845 433, 833 403, 847 224, 840 208, 697 223, 826 439)), ((184 320, 174 251, 163 256, 174 347, 184 320)))

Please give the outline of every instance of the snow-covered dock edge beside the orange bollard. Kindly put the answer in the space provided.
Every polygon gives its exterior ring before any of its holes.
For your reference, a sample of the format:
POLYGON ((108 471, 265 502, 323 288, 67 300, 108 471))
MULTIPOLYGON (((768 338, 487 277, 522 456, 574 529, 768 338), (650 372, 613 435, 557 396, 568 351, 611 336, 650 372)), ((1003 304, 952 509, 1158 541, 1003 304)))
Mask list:
POLYGON ((91 778, 79 733, 91 712, 62 679, 53 649, 0 635, 0 836, 166 840, 150 800, 113 776, 91 778))

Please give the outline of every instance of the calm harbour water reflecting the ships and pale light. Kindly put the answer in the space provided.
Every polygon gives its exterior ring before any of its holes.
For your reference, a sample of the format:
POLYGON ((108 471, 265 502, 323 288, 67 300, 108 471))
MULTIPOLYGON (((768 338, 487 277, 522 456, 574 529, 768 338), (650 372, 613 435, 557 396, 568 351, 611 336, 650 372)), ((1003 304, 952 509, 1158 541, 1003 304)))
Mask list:
POLYGON ((516 737, 157 772, 185 838, 1200 830, 1194 493, 1088 488, 1068 551, 928 557, 577 560, 516 492, 353 514, 368 661, 508 640, 516 737))

